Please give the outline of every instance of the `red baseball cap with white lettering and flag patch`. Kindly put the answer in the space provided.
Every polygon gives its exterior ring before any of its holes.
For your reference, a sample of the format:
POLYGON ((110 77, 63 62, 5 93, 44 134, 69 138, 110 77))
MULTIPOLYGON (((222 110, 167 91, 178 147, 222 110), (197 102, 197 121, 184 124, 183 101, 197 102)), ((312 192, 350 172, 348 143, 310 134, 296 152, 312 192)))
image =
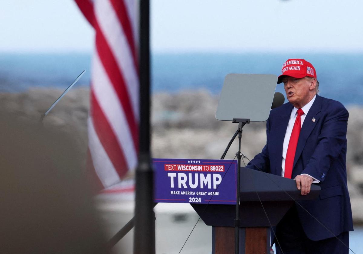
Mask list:
POLYGON ((317 78, 314 66, 305 59, 288 59, 282 65, 281 72, 282 74, 277 78, 278 84, 282 83, 282 78, 284 76, 290 76, 293 78, 303 78, 306 76, 317 78))

